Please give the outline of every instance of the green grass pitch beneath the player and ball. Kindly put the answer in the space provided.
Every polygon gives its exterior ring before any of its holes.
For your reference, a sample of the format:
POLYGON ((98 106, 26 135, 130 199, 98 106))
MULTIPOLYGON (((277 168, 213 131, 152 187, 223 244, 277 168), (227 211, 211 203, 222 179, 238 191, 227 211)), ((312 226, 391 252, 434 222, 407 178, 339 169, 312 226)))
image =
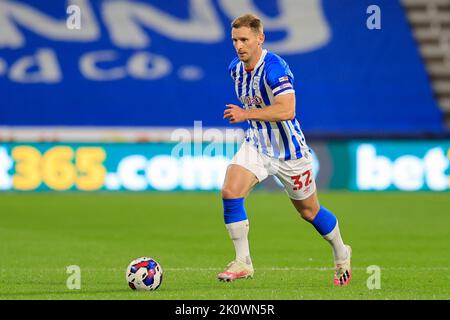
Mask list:
POLYGON ((353 279, 333 287, 329 244, 284 193, 246 200, 255 277, 223 283, 234 257, 219 193, 0 194, 0 299, 449 299, 448 193, 319 193, 353 248, 353 279), (128 288, 125 269, 151 256, 154 292, 128 288), (66 267, 81 268, 81 289, 66 267), (370 290, 367 267, 380 267, 370 290))

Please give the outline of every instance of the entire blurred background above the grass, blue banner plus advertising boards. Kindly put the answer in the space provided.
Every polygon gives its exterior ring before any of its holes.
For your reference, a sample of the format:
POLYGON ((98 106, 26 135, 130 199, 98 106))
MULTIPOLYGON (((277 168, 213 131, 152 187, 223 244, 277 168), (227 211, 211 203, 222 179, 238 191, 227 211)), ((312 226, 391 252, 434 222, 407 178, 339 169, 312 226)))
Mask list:
POLYGON ((294 73, 319 189, 449 190, 448 0, 0 0, 0 190, 220 190, 247 12, 294 73))

